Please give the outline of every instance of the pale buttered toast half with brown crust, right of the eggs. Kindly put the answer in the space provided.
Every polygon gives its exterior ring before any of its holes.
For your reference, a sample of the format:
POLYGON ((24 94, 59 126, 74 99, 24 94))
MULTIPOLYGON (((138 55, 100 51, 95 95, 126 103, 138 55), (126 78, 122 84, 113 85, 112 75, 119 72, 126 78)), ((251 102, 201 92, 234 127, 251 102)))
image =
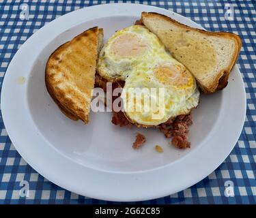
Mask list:
POLYGON ((204 93, 227 86, 242 46, 238 35, 195 29, 154 12, 142 12, 141 22, 190 70, 204 93))

